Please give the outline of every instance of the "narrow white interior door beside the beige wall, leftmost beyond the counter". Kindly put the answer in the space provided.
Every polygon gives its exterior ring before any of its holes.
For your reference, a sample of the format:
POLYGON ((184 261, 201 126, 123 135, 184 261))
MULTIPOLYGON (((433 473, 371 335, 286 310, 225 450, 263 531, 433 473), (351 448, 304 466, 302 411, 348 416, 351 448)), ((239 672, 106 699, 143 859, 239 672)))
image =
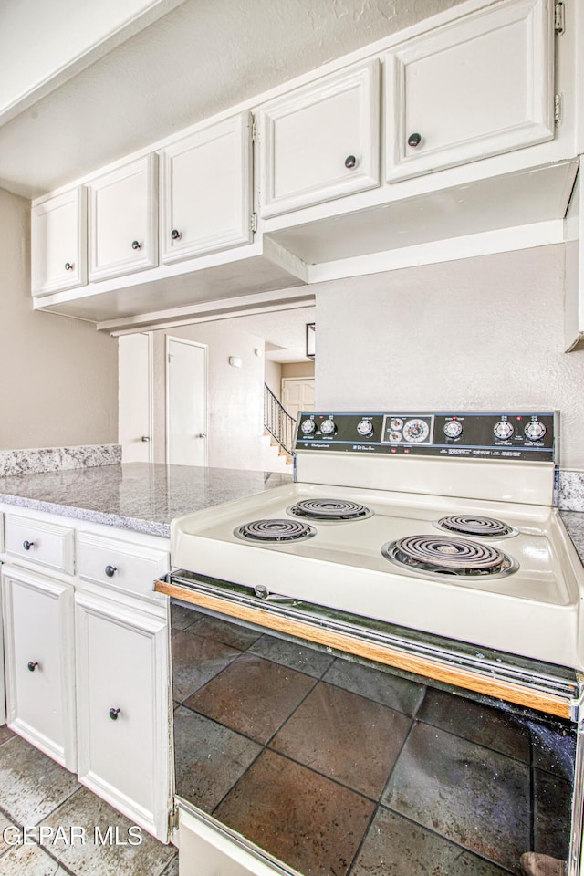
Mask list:
POLYGON ((151 333, 122 335, 118 340, 118 441, 124 463, 151 463, 151 333))

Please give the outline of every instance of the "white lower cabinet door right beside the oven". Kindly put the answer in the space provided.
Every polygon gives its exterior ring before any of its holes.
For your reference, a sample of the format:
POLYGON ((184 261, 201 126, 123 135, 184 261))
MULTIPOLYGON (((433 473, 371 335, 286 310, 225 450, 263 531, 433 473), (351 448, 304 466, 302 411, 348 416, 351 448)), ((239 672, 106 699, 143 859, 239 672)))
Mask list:
POLYGON ((79 781, 168 840, 168 627, 76 595, 79 781))

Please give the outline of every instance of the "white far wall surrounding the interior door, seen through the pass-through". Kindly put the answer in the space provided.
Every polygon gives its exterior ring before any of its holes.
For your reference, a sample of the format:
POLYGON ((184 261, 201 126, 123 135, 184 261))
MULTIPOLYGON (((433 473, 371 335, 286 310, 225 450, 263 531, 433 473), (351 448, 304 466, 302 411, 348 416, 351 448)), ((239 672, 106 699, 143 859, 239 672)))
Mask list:
POLYGON ((218 468, 262 469, 264 432, 264 339, 234 328, 230 320, 153 332, 154 462, 166 461, 165 337, 196 340, 208 347, 208 464, 218 468), (255 355, 255 349, 262 352, 255 355), (241 368, 229 357, 242 360, 241 368))

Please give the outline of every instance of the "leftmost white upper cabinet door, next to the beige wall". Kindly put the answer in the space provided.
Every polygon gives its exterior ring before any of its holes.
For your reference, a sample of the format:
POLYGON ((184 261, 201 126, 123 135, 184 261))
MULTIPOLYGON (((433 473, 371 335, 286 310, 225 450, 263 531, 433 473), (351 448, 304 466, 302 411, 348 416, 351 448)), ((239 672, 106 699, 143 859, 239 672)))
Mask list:
POLYGON ((87 283, 87 202, 83 186, 34 204, 31 216, 32 294, 87 283))

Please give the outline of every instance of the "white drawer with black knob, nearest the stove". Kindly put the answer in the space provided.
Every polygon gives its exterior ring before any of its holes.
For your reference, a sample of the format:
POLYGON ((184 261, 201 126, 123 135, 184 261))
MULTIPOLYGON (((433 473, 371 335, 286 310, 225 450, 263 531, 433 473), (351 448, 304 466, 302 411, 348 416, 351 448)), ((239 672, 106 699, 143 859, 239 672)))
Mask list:
POLYGON ((169 568, 166 550, 89 532, 78 534, 79 578, 91 584, 160 602, 162 595, 154 592, 153 581, 169 568))

